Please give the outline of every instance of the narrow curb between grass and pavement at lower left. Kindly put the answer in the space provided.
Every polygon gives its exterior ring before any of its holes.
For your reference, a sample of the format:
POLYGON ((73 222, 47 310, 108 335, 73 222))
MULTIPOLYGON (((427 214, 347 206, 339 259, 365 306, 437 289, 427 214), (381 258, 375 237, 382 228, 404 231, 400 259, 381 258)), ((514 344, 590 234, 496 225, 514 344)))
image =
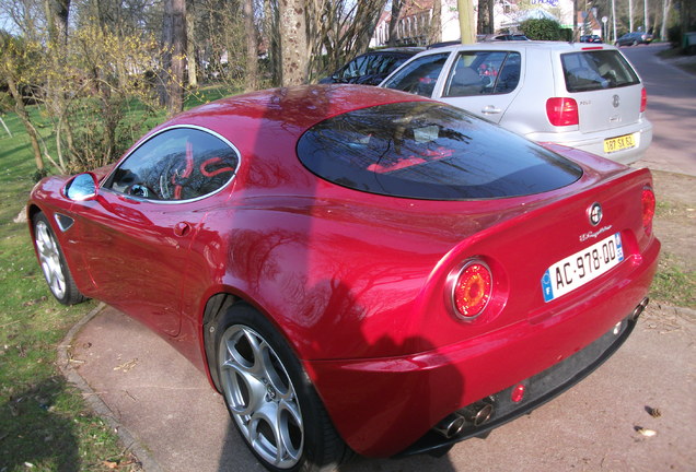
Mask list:
POLYGON ((148 472, 164 472, 164 469, 158 463, 154 457, 152 457, 152 453, 148 450, 148 448, 142 445, 139 439, 128 430, 128 428, 120 424, 114 412, 111 411, 100 396, 92 390, 78 370, 70 365, 68 350, 72 345, 72 341, 76 335, 84 324, 98 315, 105 307, 106 304, 100 303, 96 308, 86 314, 80 321, 70 328, 70 331, 68 331, 62 342, 58 345, 58 367, 68 381, 80 389, 82 397, 92 411, 100 418, 106 422, 108 426, 116 432, 116 434, 118 434, 118 437, 126 446, 127 450, 138 458, 143 470, 148 472))

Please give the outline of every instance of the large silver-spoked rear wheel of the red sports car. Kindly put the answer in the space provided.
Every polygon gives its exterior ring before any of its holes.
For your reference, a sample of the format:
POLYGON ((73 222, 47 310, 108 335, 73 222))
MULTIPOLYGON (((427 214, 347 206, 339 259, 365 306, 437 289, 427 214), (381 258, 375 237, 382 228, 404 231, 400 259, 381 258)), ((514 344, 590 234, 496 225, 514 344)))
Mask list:
POLYGON ((218 322, 217 333, 225 404, 262 463, 271 471, 337 467, 349 449, 272 324, 252 307, 235 305, 218 322))

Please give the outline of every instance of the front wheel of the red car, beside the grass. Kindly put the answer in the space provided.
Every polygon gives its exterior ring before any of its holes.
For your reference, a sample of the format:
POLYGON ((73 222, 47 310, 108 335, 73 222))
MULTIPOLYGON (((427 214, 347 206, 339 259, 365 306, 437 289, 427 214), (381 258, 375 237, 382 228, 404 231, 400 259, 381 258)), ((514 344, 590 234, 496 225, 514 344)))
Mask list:
POLYGON ((70 274, 62 249, 46 215, 36 213, 32 224, 34 225, 34 247, 50 293, 62 305, 84 302, 86 297, 80 293, 70 274))

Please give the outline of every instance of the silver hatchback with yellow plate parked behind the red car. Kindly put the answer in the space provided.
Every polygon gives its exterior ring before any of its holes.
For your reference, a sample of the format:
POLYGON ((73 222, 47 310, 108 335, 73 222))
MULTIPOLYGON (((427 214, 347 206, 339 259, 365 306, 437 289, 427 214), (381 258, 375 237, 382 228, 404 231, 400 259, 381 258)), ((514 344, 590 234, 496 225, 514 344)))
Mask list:
POLYGON ((533 141, 624 164, 640 160, 652 141, 646 88, 610 45, 501 42, 430 49, 380 86, 464 108, 533 141))

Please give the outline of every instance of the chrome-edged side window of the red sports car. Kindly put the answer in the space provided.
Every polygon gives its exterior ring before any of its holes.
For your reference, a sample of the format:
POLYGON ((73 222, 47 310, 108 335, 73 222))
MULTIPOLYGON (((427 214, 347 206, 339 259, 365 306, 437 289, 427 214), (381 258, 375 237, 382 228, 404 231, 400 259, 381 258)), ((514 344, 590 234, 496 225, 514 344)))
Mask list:
POLYGON ((105 188, 148 200, 190 200, 229 182, 239 155, 220 138, 195 128, 155 134, 126 157, 105 188))

